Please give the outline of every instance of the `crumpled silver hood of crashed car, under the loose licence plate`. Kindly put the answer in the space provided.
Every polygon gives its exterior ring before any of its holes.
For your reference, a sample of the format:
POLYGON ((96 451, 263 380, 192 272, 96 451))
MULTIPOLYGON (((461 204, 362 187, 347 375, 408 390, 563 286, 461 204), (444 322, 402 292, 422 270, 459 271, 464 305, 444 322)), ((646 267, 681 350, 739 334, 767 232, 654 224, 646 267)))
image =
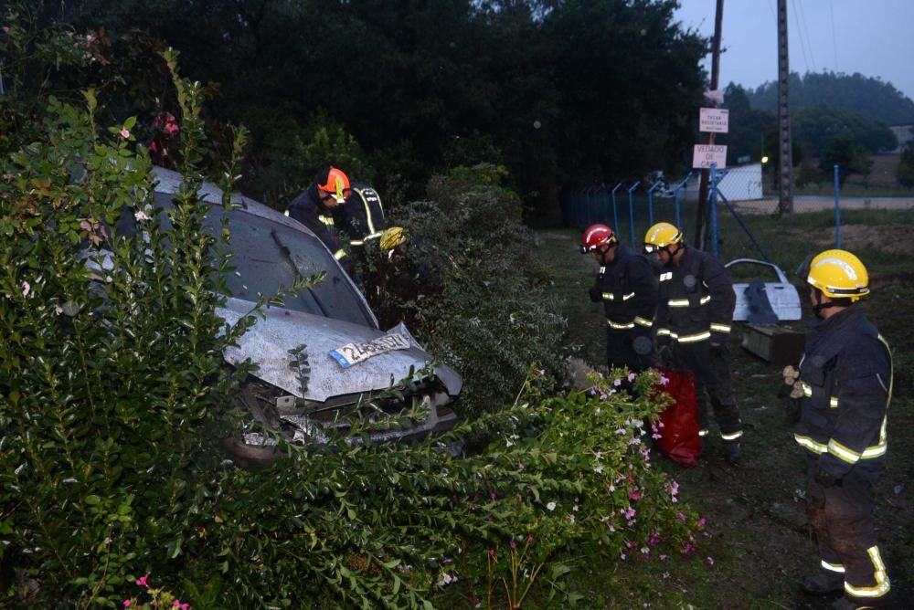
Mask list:
MULTIPOLYGON (((218 315, 234 324, 248 313, 254 304, 248 300, 229 298, 218 315)), ((418 372, 432 360, 401 323, 388 332, 399 332, 412 345, 409 349, 378 353, 371 358, 343 368, 329 354, 346 343, 369 342, 385 332, 351 322, 333 320, 302 311, 270 307, 262 310, 265 318, 239 339, 238 347, 229 347, 224 355, 228 363, 239 364, 250 358, 260 368, 254 373, 268 384, 306 400, 324 403, 343 394, 358 394, 384 390, 409 376, 412 368, 418 372), (305 346, 311 373, 308 391, 302 394, 295 369, 290 366, 290 350, 305 346)), ((448 394, 460 393, 462 378, 452 368, 438 365, 434 373, 445 385, 448 394)))

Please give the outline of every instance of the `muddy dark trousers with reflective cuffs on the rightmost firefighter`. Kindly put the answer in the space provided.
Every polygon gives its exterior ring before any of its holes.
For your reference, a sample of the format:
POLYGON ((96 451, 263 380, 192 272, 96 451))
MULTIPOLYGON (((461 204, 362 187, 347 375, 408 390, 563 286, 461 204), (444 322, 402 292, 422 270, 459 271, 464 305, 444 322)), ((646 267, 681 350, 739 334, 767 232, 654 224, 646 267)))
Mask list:
POLYGON ((839 485, 824 487, 813 479, 816 460, 808 460, 806 510, 819 544, 819 558, 833 573, 844 570, 849 597, 861 603, 878 599, 888 590, 888 576, 873 521, 874 481, 851 470, 839 485))

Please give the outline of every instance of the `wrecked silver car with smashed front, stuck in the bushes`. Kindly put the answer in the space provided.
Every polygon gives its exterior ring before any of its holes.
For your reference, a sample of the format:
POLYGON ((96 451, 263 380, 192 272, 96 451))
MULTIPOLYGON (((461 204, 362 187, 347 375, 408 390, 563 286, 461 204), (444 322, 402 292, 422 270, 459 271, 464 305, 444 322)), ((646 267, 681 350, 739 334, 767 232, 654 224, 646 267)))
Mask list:
MULTIPOLYGON (((169 206, 181 174, 159 167, 154 172, 156 203, 169 206)), ((232 195, 239 207, 226 210, 214 184, 204 184, 200 194, 214 204, 207 227, 218 235, 225 218, 231 234, 235 271, 228 276, 225 307, 217 310, 225 321, 239 321, 260 295, 274 295, 295 279, 326 274, 311 288, 286 296, 282 307, 266 308, 238 346, 224 354, 229 364, 250 359, 258 367, 237 397, 250 412, 251 425, 243 442, 226 442, 239 465, 271 463, 279 453, 278 435, 290 441, 325 440, 329 427, 350 426, 348 417, 355 411, 368 411, 376 424, 396 422, 369 427, 370 442, 427 436, 456 424, 451 405, 461 392, 461 376, 448 366, 430 367, 432 356, 402 323, 381 331, 365 298, 314 233, 248 197, 232 195), (306 384, 302 363, 310 367, 306 384), (420 372, 424 376, 406 389, 385 395, 393 384, 420 372), (369 409, 357 408, 368 402, 369 409)))

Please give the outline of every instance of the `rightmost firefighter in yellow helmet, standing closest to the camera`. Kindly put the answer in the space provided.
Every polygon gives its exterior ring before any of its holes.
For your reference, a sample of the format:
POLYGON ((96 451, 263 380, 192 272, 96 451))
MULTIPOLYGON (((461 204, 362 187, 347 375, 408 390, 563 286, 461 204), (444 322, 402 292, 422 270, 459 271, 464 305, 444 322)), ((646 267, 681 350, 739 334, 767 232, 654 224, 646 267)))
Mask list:
POLYGON ((850 252, 825 250, 801 268, 818 318, 800 363, 800 420, 807 510, 820 567, 810 594, 844 592, 831 607, 885 605, 890 589, 873 522, 873 486, 887 450, 892 356, 856 304, 869 294, 866 267, 850 252))

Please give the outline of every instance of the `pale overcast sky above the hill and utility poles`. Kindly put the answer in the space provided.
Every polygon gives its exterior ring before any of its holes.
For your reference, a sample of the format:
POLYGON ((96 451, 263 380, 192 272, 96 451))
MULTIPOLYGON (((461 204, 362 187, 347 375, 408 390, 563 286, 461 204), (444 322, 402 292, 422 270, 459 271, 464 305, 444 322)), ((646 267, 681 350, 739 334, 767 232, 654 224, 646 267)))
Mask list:
MULTIPOLYGON (((713 36, 716 0, 679 2, 676 18, 713 36)), ((777 14, 777 0, 724 0, 721 89, 777 80, 777 14)), ((787 16, 792 72, 859 72, 914 100, 914 0, 787 0, 787 16)))

